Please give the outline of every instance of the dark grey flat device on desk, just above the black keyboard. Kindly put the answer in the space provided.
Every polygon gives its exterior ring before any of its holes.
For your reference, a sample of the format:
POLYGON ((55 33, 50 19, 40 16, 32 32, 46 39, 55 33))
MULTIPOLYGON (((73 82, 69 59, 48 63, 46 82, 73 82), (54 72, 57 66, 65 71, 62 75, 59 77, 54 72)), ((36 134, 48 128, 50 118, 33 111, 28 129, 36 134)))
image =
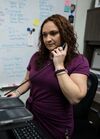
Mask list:
POLYGON ((21 126, 33 115, 19 98, 0 98, 0 130, 21 126))

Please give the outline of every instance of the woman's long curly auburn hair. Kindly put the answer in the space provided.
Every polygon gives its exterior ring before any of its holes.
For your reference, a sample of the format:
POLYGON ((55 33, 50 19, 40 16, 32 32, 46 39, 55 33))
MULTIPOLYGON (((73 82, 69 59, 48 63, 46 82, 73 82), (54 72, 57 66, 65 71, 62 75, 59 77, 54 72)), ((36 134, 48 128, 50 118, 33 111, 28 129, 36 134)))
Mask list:
POLYGON ((68 45, 68 52, 65 57, 65 64, 68 64, 78 53, 77 49, 77 42, 76 42, 76 34, 74 33, 73 26, 70 22, 66 19, 66 17, 55 14, 47 19, 41 25, 40 35, 39 35, 39 55, 36 60, 36 65, 38 68, 43 67, 44 63, 49 59, 50 51, 45 47, 42 35, 42 29, 45 23, 52 21, 57 28, 59 29, 60 36, 61 36, 61 44, 67 43, 68 45))

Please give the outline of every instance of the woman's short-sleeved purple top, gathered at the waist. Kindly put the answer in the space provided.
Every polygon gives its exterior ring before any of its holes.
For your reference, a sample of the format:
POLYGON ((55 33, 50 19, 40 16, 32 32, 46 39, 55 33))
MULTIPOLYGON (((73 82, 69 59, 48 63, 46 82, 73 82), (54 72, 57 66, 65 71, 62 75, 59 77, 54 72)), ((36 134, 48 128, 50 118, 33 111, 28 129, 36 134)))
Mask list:
MULTIPOLYGON (((73 106, 63 96, 51 60, 45 64, 45 68, 37 71, 36 57, 37 53, 32 56, 27 67, 30 78, 34 77, 31 80, 30 96, 26 106, 33 113, 34 120, 46 129, 53 139, 64 139, 66 130, 69 135, 73 131, 73 106)), ((89 74, 88 61, 82 55, 75 57, 66 69, 69 75, 89 74)))

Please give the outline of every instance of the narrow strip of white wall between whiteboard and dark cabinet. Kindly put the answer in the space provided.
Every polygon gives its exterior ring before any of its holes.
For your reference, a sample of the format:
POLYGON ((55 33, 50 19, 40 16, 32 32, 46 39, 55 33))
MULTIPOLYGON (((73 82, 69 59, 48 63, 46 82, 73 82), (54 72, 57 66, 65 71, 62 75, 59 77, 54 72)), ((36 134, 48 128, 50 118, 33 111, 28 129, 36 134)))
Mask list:
POLYGON ((76 18, 75 18, 75 31, 78 36, 79 51, 83 53, 84 48, 84 32, 87 9, 90 9, 91 0, 78 0, 76 18))

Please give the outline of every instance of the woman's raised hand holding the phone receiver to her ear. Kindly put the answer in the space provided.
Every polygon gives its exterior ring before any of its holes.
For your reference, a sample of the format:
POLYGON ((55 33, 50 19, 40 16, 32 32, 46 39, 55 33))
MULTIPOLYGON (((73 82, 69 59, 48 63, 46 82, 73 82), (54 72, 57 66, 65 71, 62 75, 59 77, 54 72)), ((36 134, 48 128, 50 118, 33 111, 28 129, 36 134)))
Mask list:
POLYGON ((64 60, 67 55, 67 49, 68 49, 68 46, 66 44, 64 49, 62 47, 57 47, 56 49, 51 51, 53 55, 53 63, 55 66, 55 70, 64 68, 64 60))

